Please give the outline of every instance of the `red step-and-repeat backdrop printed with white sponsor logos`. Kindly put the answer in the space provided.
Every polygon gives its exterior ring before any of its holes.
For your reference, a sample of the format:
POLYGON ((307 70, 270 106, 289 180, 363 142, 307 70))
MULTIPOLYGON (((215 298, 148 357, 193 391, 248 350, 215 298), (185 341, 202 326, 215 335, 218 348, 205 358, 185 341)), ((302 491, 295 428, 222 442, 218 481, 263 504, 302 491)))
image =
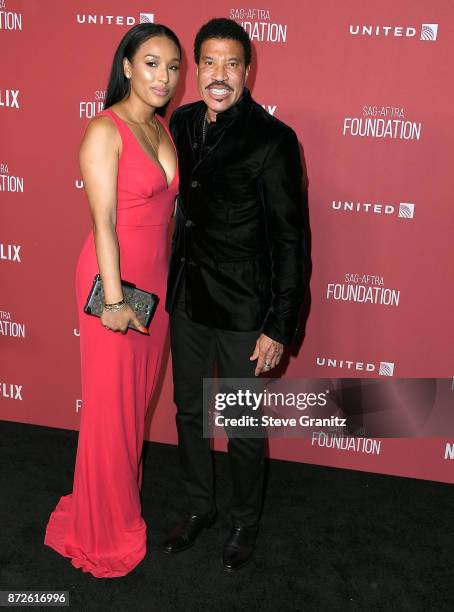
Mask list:
MULTIPOLYGON (((452 2, 266 0, 259 6, 0 0, 0 418, 78 428, 74 271, 90 231, 78 147, 87 122, 103 108, 119 40, 143 21, 170 26, 185 49, 170 110, 197 99, 192 47, 200 25, 215 16, 242 24, 254 46, 253 97, 299 136, 309 176, 313 273, 306 335, 284 376, 396 384, 452 377, 452 2)), ((167 355, 147 438, 174 443, 167 355)), ((396 408, 392 396, 383 396, 378 410, 398 410, 396 423, 427 424, 427 432, 452 404, 412 392, 396 408)), ((269 452, 454 481, 452 432, 396 438, 375 431, 377 437, 362 442, 346 434, 339 441, 335 431, 275 438, 269 452)))

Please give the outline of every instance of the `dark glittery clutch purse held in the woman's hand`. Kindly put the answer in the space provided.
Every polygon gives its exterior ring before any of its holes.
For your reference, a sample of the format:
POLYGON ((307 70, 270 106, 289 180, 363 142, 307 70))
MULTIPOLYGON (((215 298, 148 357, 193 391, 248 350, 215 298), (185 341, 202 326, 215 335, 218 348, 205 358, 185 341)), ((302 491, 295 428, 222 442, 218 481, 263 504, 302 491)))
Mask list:
MULTIPOLYGON (((159 302, 158 296, 154 293, 150 293, 149 291, 138 289, 132 283, 128 283, 124 280, 121 281, 121 288, 123 290, 124 300, 134 310, 140 323, 144 327, 148 328, 156 311, 156 306, 159 302)), ((101 276, 97 274, 93 280, 90 293, 88 294, 87 303, 84 306, 84 312, 95 317, 100 317, 103 309, 104 288, 102 286, 101 276)), ((128 327, 129 329, 137 331, 132 323, 130 323, 128 327)))

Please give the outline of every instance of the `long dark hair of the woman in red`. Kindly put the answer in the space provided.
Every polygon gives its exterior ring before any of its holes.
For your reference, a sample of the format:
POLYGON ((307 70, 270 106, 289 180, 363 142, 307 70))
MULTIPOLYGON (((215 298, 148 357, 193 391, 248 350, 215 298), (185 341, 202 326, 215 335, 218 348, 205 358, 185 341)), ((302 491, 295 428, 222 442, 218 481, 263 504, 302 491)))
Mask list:
MULTIPOLYGON (((113 104, 120 102, 129 92, 129 79, 125 77, 123 60, 125 57, 132 62, 134 55, 140 45, 153 36, 166 36, 178 48, 181 57, 181 45, 177 35, 168 27, 157 23, 139 23, 128 30, 120 41, 112 62, 109 83, 107 85, 106 99, 104 108, 109 108, 113 104)), ((167 104, 162 108, 157 108, 156 112, 164 115, 167 104)))

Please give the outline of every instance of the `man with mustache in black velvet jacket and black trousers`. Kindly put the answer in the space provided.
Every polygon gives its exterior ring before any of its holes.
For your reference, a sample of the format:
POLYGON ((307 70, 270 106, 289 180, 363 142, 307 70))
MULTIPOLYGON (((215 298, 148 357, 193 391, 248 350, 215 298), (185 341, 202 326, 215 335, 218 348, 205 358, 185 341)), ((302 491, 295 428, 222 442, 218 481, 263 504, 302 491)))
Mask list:
MULTIPOLYGON (((298 140, 254 102, 245 82, 251 43, 229 19, 198 32, 202 100, 170 129, 180 171, 166 308, 170 313, 180 466, 188 515, 164 543, 189 548, 214 521, 212 458, 203 437, 202 379, 251 378, 280 361, 306 289, 307 219, 298 140)), ((263 437, 229 435, 232 530, 227 571, 254 549, 263 489, 263 437)))

